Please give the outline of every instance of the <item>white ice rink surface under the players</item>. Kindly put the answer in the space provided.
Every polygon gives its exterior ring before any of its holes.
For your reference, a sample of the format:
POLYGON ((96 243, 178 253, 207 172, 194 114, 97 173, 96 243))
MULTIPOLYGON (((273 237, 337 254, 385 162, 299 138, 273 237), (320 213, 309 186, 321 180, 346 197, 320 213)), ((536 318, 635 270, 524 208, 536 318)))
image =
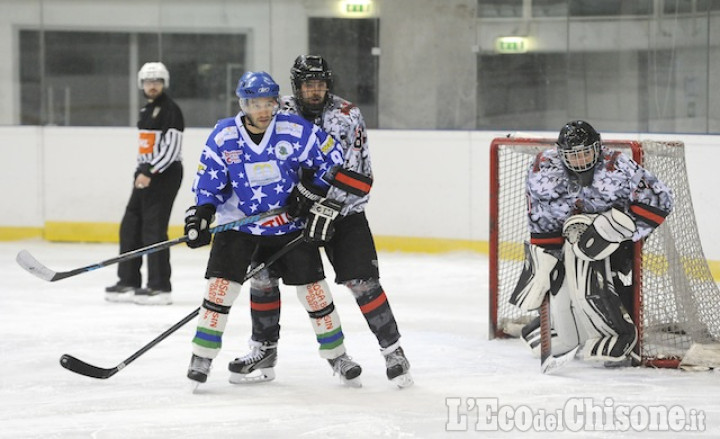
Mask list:
POLYGON ((228 383, 227 363, 247 351, 250 334, 245 286, 210 378, 193 394, 185 374, 194 320, 107 380, 73 374, 58 360, 67 353, 117 366, 192 312, 202 299, 207 247, 173 247, 174 304, 163 307, 106 302, 114 266, 38 279, 16 264, 21 249, 57 271, 117 255, 114 244, 0 243, 2 438, 457 438, 479 429, 489 429, 480 433, 488 438, 720 437, 720 372, 606 370, 574 361, 547 376, 518 340, 488 340, 483 255, 380 254, 411 388, 387 381, 377 341, 350 292, 337 285, 362 388, 342 386, 319 358, 307 314, 286 287, 277 378, 228 383), (496 417, 478 408, 493 404, 496 417), (680 431, 652 431, 648 416, 658 414, 668 420, 662 429, 680 431), (557 430, 558 419, 561 431, 541 431, 557 430))

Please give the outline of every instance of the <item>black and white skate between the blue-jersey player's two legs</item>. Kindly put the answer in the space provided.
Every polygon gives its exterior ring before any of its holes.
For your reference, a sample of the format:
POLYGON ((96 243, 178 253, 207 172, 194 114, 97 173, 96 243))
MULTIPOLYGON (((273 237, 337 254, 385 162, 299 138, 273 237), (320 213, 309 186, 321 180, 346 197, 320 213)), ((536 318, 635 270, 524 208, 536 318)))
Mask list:
POLYGON ((250 352, 228 364, 230 382, 250 384, 275 379, 277 364, 277 342, 250 341, 250 352))

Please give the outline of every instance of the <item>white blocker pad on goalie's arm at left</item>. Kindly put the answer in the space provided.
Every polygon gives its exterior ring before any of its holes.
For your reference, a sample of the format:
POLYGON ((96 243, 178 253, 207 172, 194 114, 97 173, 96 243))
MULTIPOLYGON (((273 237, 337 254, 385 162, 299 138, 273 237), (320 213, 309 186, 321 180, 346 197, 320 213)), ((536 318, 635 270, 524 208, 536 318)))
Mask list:
POLYGON ((510 303, 528 312, 540 308, 552 285, 562 283, 562 264, 542 247, 525 242, 525 264, 510 303))

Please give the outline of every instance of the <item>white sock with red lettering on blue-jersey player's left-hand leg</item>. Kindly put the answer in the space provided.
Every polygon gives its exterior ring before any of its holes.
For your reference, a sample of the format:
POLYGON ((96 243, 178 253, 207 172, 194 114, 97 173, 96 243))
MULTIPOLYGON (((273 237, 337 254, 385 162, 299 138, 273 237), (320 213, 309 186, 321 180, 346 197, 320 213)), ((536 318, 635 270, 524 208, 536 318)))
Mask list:
POLYGON ((239 295, 239 283, 217 277, 208 279, 195 337, 192 340, 193 354, 210 359, 217 356, 222 347, 228 312, 239 295))

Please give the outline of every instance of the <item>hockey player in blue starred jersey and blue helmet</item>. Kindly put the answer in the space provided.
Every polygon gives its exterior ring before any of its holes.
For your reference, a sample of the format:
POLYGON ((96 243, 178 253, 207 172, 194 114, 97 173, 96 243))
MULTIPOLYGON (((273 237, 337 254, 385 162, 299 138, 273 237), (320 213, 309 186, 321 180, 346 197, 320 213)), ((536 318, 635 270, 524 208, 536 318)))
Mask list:
MULTIPOLYGON (((188 369, 188 378, 198 383, 207 380, 219 353, 228 313, 253 258, 266 260, 300 233, 309 241, 322 239, 327 229, 315 225, 329 224, 340 209, 339 203, 324 198, 318 200, 324 208, 305 208, 296 202, 301 174, 326 190, 322 177, 342 164, 342 150, 333 138, 301 117, 278 114, 279 86, 265 72, 243 75, 236 93, 241 112, 218 121, 200 158, 193 184, 196 205, 185 217, 185 234, 195 237, 188 246, 210 243, 209 226, 215 215, 224 223, 284 206, 289 206, 291 215, 220 232, 212 240, 207 288, 188 369), (305 211, 311 226, 303 232, 305 220, 300 214, 305 211)), ((287 285, 307 285, 325 277, 317 247, 310 242, 293 248, 273 267, 287 285)), ((345 368, 348 379, 360 373, 359 366, 352 366, 345 368)))

